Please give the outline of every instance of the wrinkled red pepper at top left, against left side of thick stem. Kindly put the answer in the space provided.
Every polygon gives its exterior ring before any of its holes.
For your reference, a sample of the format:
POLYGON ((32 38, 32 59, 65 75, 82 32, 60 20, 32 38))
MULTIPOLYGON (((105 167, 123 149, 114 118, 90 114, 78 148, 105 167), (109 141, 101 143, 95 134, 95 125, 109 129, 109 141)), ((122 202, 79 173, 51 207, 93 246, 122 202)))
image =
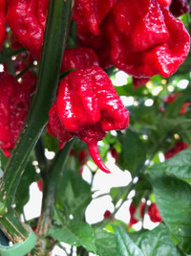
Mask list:
POLYGON ((12 34, 39 60, 49 0, 8 0, 6 20, 12 34))

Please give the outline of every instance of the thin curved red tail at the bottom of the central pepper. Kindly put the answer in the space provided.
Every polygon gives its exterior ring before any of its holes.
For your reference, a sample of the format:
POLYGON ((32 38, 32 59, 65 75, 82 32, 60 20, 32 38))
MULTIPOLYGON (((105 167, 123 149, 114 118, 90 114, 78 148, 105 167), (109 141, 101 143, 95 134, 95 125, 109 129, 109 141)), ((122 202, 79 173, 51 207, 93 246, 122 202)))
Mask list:
POLYGON ((97 148, 97 143, 87 144, 90 155, 95 161, 97 167, 106 174, 111 174, 110 170, 104 165, 97 148))

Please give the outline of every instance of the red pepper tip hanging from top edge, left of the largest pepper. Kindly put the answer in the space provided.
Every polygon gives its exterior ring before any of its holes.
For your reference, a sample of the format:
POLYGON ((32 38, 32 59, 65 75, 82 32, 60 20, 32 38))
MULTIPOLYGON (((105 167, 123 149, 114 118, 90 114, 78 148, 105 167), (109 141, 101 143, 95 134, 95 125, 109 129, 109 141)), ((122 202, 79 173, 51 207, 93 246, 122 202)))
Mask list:
POLYGON ((99 25, 117 0, 75 0, 73 19, 93 35, 99 34, 99 25))

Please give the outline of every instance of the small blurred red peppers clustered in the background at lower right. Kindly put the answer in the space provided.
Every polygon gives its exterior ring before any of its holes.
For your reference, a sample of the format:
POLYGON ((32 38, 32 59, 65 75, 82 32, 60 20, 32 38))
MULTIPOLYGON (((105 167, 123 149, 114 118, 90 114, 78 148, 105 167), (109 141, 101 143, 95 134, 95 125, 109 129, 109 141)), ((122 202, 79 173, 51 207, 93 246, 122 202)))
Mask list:
MULTIPOLYGON (((130 212, 130 221, 129 221, 129 228, 132 225, 138 223, 138 219, 135 218, 135 214, 138 210, 138 207, 134 205, 132 202, 129 207, 130 212)), ((153 222, 161 222, 161 217, 159 214, 159 209, 156 202, 151 203, 150 205, 146 205, 145 202, 141 202, 139 206, 139 217, 142 219, 144 214, 148 214, 150 220, 153 222)))

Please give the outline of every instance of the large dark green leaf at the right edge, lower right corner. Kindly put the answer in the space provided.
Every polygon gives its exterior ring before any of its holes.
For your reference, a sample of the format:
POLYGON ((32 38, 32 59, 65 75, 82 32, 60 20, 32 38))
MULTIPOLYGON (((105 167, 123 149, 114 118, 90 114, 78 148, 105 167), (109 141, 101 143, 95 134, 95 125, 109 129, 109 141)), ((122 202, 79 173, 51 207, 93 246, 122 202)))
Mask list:
POLYGON ((191 186, 162 174, 159 166, 149 173, 159 213, 184 252, 191 253, 191 186))

